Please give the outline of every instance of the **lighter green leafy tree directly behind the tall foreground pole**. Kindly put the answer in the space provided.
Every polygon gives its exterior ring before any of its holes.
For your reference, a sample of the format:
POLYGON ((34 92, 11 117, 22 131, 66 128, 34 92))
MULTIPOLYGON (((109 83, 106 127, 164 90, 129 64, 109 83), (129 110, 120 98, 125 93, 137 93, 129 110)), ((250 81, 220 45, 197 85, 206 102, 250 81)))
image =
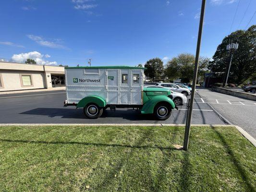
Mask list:
MULTIPOLYGON (((198 79, 202 79, 204 77, 204 74, 207 71, 208 62, 208 58, 200 58, 198 79)), ((193 79, 194 68, 195 55, 182 53, 167 62, 165 66, 165 74, 170 80, 181 78, 183 83, 189 83, 193 79)))

